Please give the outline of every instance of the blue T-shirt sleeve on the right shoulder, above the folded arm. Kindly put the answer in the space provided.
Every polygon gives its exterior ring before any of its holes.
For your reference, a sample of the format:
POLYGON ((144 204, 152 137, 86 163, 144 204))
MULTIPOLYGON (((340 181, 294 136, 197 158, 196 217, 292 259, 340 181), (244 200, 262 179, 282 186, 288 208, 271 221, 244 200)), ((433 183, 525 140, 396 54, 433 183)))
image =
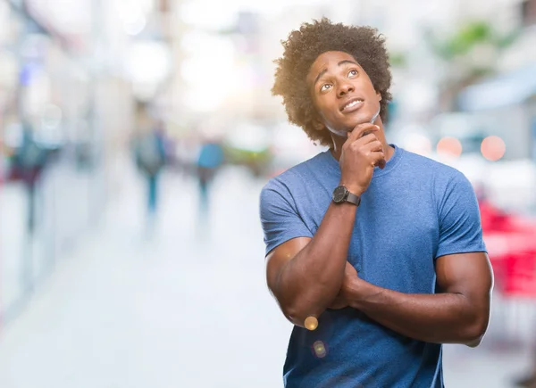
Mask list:
POLYGON ((481 215, 471 182, 456 171, 439 203, 440 240, 435 258, 455 253, 486 252, 481 215))

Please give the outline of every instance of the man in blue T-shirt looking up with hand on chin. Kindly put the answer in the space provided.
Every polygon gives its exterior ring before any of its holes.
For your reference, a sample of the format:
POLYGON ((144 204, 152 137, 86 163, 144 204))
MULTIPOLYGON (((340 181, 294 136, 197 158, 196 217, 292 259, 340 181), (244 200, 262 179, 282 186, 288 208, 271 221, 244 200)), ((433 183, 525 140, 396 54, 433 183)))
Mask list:
POLYGON ((295 325, 285 386, 442 387, 441 343, 478 345, 490 317, 473 187, 387 143, 374 29, 322 19, 283 46, 272 92, 330 147, 261 193, 268 286, 295 325))

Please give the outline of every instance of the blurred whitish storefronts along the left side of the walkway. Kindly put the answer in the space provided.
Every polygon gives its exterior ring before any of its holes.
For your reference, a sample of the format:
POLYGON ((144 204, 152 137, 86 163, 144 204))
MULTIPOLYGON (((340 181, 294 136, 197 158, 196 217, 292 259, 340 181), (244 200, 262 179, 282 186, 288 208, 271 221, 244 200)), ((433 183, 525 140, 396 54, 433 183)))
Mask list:
POLYGON ((136 103, 156 100, 170 74, 166 12, 163 1, 0 1, 5 320, 118 191, 136 103), (24 188, 11 165, 23 124, 55 155, 38 181, 31 232, 24 227, 24 188))

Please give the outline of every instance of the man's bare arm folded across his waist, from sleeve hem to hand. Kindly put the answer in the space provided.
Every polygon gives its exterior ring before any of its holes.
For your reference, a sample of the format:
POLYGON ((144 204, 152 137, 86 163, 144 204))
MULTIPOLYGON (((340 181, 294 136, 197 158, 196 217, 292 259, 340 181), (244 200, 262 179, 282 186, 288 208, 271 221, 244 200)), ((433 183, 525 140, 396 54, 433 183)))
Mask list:
POLYGON ((493 285, 485 253, 440 257, 436 263, 440 293, 435 294, 398 293, 371 285, 352 269, 347 266, 341 294, 351 307, 381 325, 428 343, 477 346, 482 340, 490 319, 493 285))

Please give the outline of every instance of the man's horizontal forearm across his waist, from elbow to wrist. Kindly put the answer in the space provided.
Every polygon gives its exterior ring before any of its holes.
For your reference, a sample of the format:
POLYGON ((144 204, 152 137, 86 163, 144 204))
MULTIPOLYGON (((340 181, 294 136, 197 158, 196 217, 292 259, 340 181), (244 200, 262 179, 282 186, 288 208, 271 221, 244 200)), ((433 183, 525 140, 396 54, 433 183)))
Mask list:
POLYGON ((486 309, 461 293, 408 294, 360 281, 350 305, 389 329, 428 343, 478 344, 488 325, 486 309))

